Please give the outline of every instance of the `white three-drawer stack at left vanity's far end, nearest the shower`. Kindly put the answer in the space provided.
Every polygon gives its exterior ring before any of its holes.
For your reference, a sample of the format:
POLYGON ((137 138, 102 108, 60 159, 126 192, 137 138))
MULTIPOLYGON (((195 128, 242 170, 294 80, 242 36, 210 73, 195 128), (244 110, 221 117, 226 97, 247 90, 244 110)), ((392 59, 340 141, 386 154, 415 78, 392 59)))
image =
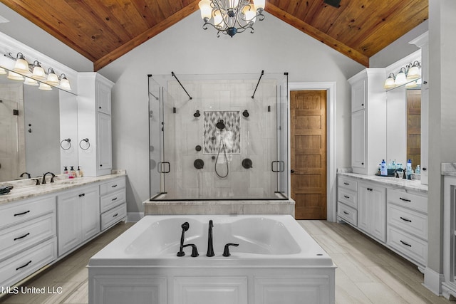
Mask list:
POLYGON ((100 184, 100 227, 108 229, 127 216, 125 177, 100 184))

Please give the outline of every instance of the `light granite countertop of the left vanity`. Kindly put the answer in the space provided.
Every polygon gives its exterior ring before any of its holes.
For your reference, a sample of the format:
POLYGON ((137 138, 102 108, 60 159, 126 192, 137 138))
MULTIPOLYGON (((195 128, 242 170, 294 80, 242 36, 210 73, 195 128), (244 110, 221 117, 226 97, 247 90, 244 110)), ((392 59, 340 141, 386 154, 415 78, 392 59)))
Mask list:
MULTIPOLYGON (((0 205, 6 204, 11 201, 19 201, 21 199, 28 199, 33 196, 39 196, 44 194, 51 194, 54 192, 61 192, 63 190, 80 187, 96 182, 103 182, 115 177, 125 176, 125 170, 113 170, 111 174, 103 175, 100 177, 76 177, 74 179, 68 179, 64 174, 57 175, 54 180, 55 182, 46 184, 35 185, 35 181, 32 179, 20 179, 11 182, 1 182, 0 186, 12 185, 14 188, 9 194, 0 195, 0 205)), ((46 180, 51 177, 46 177, 46 180)), ((41 179, 40 179, 41 182, 41 179)))

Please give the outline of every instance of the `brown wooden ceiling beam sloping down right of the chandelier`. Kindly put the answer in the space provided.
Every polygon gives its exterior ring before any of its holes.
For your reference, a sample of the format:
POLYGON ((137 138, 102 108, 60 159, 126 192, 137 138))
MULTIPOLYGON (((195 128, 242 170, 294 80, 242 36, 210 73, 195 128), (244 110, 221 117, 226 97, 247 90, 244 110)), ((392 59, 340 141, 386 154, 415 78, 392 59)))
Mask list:
POLYGON ((336 40, 335 38, 329 36, 326 33, 323 33, 322 31, 318 30, 317 28, 314 28, 313 26, 309 25, 309 23, 306 23, 302 21, 301 19, 296 18, 295 16, 287 13, 286 11, 279 9, 279 7, 274 6, 270 2, 266 5, 265 10, 273 15, 279 18, 281 21, 284 21, 286 23, 289 23, 289 25, 294 26, 295 28, 299 29, 299 31, 302 31, 306 33, 307 35, 316 38, 318 41, 321 41, 322 43, 326 44, 326 46, 329 46, 336 51, 343 53, 343 55, 347 56, 348 58, 353 59, 354 61, 361 63, 362 65, 366 66, 367 68, 369 67, 369 58, 368 56, 364 55, 363 53, 360 53, 356 51, 355 49, 346 46, 345 44, 341 43, 340 41, 336 40))

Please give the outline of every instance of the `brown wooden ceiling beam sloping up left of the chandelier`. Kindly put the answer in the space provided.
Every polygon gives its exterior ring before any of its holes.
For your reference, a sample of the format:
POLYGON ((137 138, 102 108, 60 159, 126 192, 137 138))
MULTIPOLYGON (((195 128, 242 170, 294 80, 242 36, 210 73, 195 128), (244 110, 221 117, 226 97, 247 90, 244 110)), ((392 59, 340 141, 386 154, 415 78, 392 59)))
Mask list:
POLYGON ((115 61, 115 59, 120 58, 125 53, 128 53, 129 51, 133 50, 133 48, 139 46, 140 44, 149 40, 153 36, 156 36, 157 34, 161 33, 162 31, 165 31, 165 29, 167 29, 170 26, 172 26, 173 24, 181 21, 185 17, 192 14, 194 11, 197 11, 199 9, 198 2, 199 2, 199 0, 193 1, 191 4, 185 6, 180 11, 177 11, 175 14, 172 14, 171 16, 167 17, 167 19, 157 23, 152 28, 147 29, 147 31, 141 33, 138 36, 135 36, 132 40, 128 41, 127 43, 124 43, 122 46, 119 46, 114 51, 111 51, 110 53, 101 57, 97 61, 94 61, 93 70, 95 72, 97 70, 100 70, 100 68, 103 68, 104 66, 108 65, 109 63, 115 61))

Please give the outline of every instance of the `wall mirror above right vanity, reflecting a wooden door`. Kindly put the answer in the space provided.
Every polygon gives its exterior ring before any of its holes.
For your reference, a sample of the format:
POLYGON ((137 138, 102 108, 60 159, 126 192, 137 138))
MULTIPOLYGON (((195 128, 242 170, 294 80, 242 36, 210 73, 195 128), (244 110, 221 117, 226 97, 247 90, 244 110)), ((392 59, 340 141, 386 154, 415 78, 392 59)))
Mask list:
POLYGON ((412 160, 412 169, 421 163, 421 85, 402 85, 388 90, 386 112, 387 163, 405 164, 412 160))

